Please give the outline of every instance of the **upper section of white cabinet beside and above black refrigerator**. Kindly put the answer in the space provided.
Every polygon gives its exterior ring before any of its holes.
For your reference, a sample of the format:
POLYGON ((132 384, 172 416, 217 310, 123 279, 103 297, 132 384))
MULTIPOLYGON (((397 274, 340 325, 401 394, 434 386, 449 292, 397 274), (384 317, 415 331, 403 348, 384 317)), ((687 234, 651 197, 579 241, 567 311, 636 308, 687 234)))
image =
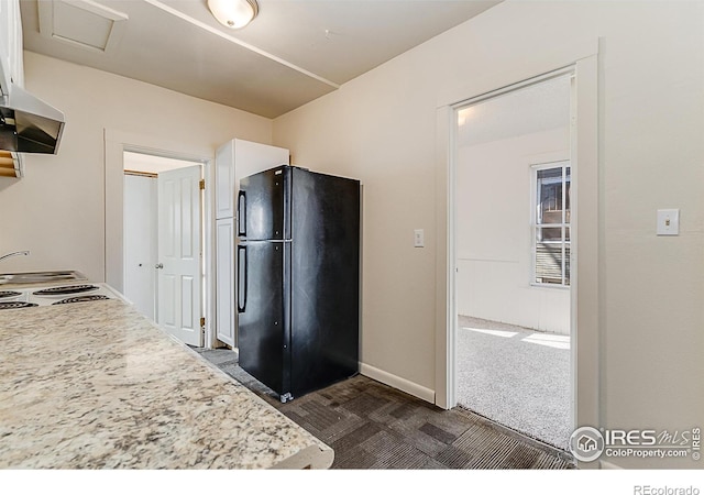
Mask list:
POLYGON ((288 164, 288 150, 232 140, 216 153, 216 218, 235 216, 240 179, 257 172, 288 164))

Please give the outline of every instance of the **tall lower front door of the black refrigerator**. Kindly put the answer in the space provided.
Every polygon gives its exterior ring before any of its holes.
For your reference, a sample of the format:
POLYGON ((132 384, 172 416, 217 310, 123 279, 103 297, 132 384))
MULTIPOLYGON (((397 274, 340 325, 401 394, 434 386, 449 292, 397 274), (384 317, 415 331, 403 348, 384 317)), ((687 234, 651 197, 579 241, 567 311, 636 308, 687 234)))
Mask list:
POLYGON ((282 396, 290 387, 289 258, 287 242, 238 246, 240 366, 282 396))

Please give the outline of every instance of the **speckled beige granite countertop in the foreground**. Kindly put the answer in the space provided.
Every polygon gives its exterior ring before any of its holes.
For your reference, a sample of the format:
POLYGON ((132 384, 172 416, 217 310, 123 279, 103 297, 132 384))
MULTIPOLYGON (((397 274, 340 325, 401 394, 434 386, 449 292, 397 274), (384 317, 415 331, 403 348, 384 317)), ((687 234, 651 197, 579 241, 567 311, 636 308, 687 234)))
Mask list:
POLYGON ((329 468, 333 452, 118 299, 0 311, 0 468, 329 468))

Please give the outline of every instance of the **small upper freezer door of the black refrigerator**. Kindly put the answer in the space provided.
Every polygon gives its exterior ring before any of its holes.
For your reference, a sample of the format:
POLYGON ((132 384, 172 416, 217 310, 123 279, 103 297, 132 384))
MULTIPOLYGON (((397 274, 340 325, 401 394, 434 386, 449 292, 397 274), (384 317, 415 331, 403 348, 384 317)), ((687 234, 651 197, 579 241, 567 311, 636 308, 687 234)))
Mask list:
POLYGON ((282 166, 240 182, 238 235, 250 241, 290 239, 290 167, 282 166))

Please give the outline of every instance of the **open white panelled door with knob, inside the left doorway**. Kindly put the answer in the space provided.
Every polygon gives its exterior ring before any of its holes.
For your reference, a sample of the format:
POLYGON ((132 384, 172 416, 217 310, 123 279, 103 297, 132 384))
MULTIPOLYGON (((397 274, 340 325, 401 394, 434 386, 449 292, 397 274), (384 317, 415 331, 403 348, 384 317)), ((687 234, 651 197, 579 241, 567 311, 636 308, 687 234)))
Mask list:
POLYGON ((201 166, 158 174, 158 324, 190 345, 202 345, 201 166))

